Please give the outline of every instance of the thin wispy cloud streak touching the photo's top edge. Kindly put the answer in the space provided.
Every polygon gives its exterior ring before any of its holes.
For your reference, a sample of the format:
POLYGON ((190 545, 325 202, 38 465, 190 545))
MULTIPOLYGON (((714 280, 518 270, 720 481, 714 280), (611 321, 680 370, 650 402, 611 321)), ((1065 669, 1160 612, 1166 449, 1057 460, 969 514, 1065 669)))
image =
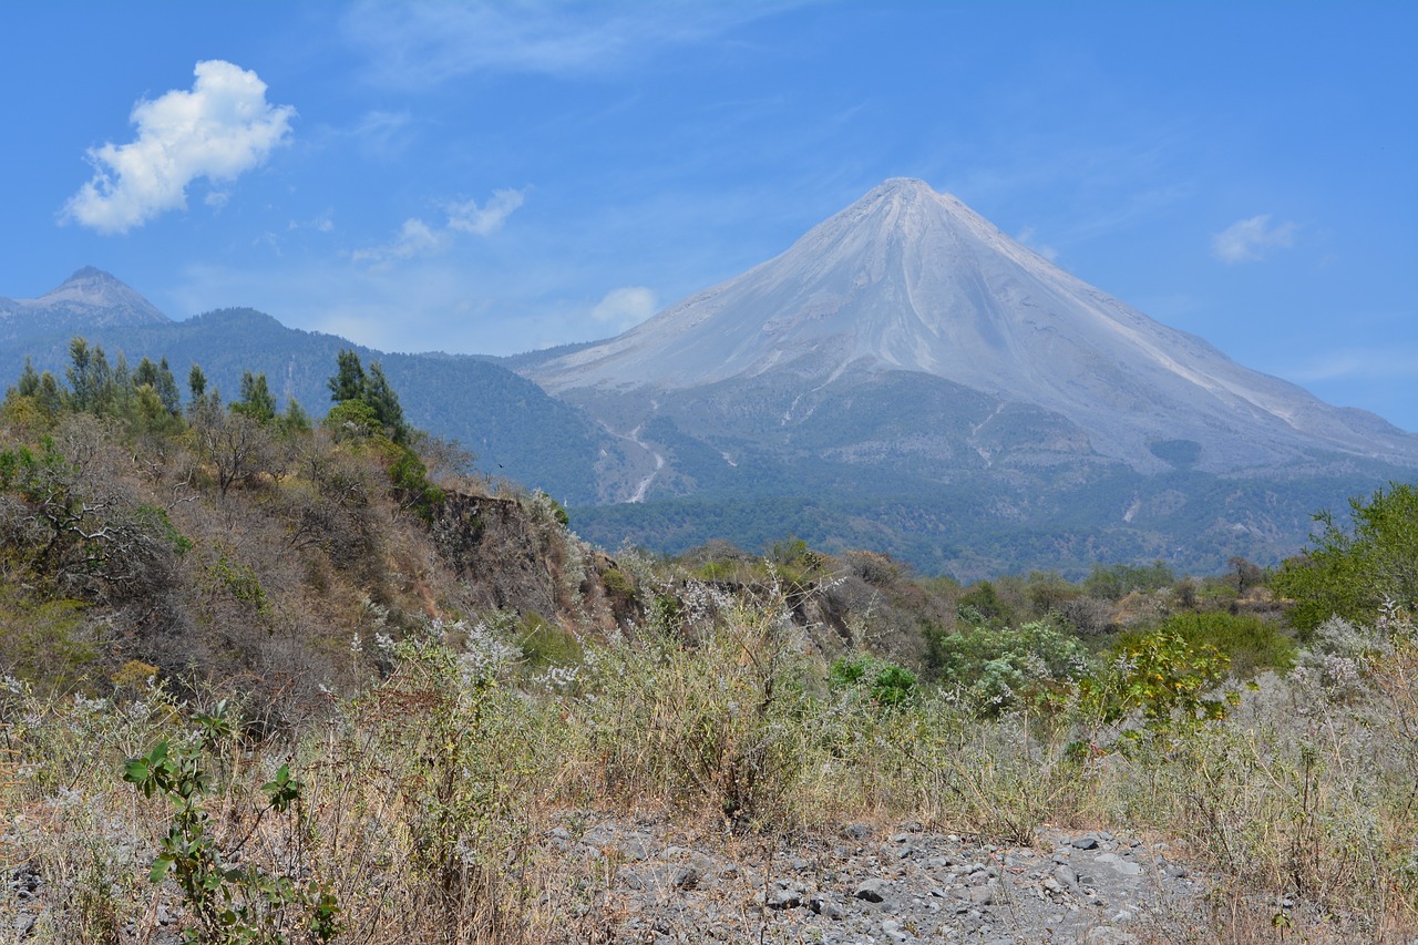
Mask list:
POLYGON ((374 81, 427 88, 481 71, 584 75, 623 68, 807 1, 369 0, 346 14, 342 33, 369 55, 374 81))

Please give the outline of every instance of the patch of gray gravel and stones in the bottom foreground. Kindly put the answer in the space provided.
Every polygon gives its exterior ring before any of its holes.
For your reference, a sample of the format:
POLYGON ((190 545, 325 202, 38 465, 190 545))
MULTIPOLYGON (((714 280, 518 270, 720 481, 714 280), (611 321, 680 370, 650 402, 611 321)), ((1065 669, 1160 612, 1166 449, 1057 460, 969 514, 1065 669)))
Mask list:
POLYGON ((1045 829, 1031 846, 997 846, 854 823, 777 849, 666 834, 611 822, 553 831, 610 880, 576 908, 567 941, 1205 941, 1205 881, 1166 843, 1109 831, 1045 829))

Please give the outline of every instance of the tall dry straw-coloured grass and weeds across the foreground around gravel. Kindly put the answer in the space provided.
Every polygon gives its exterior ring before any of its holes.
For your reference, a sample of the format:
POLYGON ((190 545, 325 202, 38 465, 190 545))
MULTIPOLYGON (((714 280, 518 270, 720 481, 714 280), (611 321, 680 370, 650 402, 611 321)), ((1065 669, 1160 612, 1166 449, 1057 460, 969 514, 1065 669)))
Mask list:
MULTIPOLYGON (((746 857, 847 820, 1012 843, 1042 823, 1116 824, 1174 839, 1215 878, 1208 941, 1398 941, 1418 925, 1411 626, 1344 685, 1269 677, 1224 722, 1079 759, 1066 709, 978 721, 927 695, 888 711, 827 687, 781 602, 691 603, 635 643, 588 644, 574 670, 520 684, 485 627, 391 646, 394 671, 332 695, 298 739, 231 742, 211 761, 218 846, 329 884, 340 942, 610 941, 625 908, 614 861, 546 841, 577 810, 669 816, 746 857), (301 805, 257 820, 281 763, 303 782, 301 805)), ((45 880, 28 941, 159 941, 177 895, 146 868, 167 807, 119 773, 190 738, 187 708, 152 688, 0 700, 0 860, 45 880)), ((281 918, 289 941, 306 941, 302 921, 281 918)), ((0 922, 0 942, 11 929, 0 922)))

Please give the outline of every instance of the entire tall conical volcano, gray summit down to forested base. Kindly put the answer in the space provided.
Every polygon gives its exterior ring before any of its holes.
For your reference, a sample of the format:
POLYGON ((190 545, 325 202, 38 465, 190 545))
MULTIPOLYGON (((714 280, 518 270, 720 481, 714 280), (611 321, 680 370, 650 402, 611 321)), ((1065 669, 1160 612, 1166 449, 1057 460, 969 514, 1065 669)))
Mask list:
POLYGON ((927 570, 1273 560, 1418 437, 1249 370, 896 179, 605 342, 509 366, 654 471, 583 535, 795 532, 927 570), (983 549, 990 545, 990 549, 983 549))

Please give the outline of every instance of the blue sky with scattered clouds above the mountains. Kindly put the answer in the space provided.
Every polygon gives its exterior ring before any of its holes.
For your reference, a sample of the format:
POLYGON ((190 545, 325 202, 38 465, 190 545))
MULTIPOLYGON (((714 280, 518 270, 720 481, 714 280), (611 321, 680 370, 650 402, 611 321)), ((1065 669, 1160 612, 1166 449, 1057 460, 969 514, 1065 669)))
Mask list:
POLYGON ((1418 3, 6 3, 0 295, 604 338, 922 177, 1418 430, 1418 3))

